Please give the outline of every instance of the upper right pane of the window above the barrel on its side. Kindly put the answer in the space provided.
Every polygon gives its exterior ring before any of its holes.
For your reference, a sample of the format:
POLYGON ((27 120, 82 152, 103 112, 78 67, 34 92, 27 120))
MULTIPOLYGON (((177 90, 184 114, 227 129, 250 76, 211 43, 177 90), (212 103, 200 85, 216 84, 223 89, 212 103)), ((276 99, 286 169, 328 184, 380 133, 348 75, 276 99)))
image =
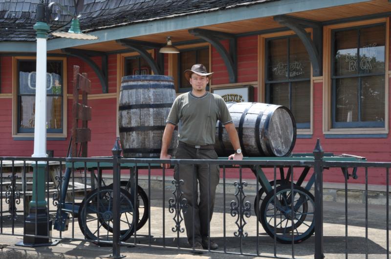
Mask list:
POLYGON ((289 78, 310 78, 310 66, 302 40, 298 37, 289 38, 289 78))

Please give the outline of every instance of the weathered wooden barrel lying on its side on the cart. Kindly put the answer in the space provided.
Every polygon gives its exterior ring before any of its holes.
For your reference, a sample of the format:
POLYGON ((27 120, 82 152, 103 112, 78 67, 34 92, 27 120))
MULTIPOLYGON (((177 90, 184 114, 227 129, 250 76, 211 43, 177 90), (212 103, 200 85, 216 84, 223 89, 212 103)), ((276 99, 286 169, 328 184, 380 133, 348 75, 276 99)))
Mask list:
MULTIPOLYGON (((284 106, 260 102, 227 103, 239 134, 243 156, 289 156, 296 141, 296 122, 284 106)), ((219 157, 234 153, 220 121, 216 125, 215 150, 219 157)))

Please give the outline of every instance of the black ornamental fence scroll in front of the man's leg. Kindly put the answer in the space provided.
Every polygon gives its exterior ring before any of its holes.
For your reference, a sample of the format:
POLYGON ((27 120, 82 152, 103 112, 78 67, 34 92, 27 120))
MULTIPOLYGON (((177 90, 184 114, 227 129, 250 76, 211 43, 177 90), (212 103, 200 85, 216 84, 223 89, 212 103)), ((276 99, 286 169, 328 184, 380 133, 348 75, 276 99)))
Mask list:
POLYGON ((175 190, 173 191, 174 198, 168 200, 169 206, 168 210, 170 213, 174 214, 175 226, 171 229, 173 232, 183 233, 185 229, 180 227, 180 223, 183 221, 181 211, 183 214, 187 212, 187 207, 189 206, 186 198, 182 198, 183 192, 180 190, 180 185, 183 185, 183 180, 173 180, 172 183, 175 185, 175 190))

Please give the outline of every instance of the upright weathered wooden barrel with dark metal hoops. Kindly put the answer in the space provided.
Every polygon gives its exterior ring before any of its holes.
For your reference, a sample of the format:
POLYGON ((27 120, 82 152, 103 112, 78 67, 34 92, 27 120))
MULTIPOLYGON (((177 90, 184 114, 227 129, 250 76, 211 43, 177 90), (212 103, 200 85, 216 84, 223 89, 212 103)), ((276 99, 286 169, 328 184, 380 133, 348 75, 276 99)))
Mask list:
MULTIPOLYGON (((122 78, 118 125, 124 157, 160 157, 163 132, 174 100, 172 77, 139 75, 122 78)), ((177 145, 177 135, 175 130, 170 154, 177 145)))

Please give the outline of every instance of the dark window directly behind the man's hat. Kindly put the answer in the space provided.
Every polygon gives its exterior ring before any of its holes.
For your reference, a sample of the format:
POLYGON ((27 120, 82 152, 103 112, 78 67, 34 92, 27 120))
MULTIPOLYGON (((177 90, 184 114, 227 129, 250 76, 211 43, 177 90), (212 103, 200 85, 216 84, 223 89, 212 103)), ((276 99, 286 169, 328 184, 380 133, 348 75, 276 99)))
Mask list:
MULTIPOLYGON (((178 92, 190 91, 192 86, 185 79, 183 72, 191 69, 194 64, 203 64, 206 69, 209 69, 209 48, 181 50, 178 55, 178 64, 178 78, 180 79, 178 92)), ((207 90, 209 90, 209 86, 207 86, 207 90)))

